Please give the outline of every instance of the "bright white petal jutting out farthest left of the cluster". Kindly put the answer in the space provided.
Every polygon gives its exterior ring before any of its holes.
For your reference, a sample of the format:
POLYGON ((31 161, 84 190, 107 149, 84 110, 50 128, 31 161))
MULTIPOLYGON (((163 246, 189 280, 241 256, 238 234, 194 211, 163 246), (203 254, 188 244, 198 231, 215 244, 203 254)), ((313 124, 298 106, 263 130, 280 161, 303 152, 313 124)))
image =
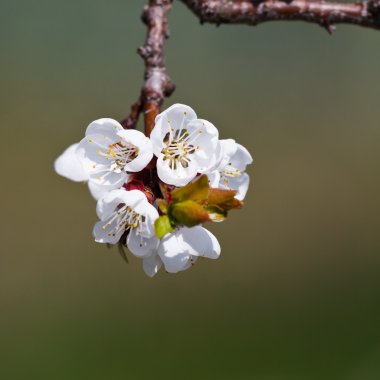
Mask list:
POLYGON ((76 154, 79 143, 70 145, 54 162, 55 171, 75 182, 88 180, 88 174, 76 154))

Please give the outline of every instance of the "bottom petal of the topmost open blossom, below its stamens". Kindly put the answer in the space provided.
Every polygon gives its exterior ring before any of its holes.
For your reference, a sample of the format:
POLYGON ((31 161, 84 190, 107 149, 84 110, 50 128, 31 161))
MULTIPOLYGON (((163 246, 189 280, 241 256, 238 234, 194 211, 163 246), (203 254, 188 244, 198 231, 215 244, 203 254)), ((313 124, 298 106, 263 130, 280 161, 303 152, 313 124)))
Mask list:
POLYGON ((164 160, 164 156, 159 156, 157 160, 157 174, 161 181, 168 185, 185 186, 195 178, 198 166, 194 161, 190 161, 187 168, 177 162, 176 168, 170 167, 170 160, 164 160))

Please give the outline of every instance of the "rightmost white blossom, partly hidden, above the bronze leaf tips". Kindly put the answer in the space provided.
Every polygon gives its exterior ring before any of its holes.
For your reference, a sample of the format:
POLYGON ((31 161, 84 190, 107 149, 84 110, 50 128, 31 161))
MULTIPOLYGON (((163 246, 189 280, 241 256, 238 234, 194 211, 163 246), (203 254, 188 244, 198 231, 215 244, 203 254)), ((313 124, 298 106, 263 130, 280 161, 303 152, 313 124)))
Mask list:
POLYGON ((249 186, 247 165, 253 162, 246 148, 232 139, 220 140, 222 160, 216 170, 207 174, 210 186, 225 190, 236 190, 235 198, 243 200, 249 186))

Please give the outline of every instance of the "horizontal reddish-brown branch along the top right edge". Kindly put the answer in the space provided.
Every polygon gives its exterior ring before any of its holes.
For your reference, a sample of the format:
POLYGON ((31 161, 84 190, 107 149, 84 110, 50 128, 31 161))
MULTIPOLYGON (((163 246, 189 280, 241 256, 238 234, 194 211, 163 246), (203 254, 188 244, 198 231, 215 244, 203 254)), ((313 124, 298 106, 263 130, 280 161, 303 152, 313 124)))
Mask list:
POLYGON ((300 20, 332 32, 334 24, 380 29, 380 0, 345 3, 293 0, 180 0, 200 21, 213 24, 257 25, 266 21, 300 20))

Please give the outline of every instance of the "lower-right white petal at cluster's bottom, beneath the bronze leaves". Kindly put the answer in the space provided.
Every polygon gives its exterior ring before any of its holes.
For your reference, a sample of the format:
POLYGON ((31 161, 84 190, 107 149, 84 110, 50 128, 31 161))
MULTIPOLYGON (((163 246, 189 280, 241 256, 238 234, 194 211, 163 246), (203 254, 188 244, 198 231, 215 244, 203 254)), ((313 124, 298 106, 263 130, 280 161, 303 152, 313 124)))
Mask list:
POLYGON ((220 256, 220 245, 217 238, 206 228, 195 226, 181 228, 182 239, 188 245, 187 251, 192 256, 217 259, 220 256))

